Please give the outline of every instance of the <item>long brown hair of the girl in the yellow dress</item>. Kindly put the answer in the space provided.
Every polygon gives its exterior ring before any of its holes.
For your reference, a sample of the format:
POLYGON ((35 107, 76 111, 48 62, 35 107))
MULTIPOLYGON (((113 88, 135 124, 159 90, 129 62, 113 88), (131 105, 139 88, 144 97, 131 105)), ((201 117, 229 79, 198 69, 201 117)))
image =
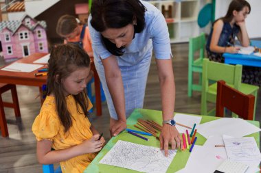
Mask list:
MULTIPOLYGON (((65 132, 71 127, 72 121, 71 114, 67 109, 62 79, 69 77, 78 68, 90 68, 90 62, 87 53, 77 44, 60 44, 51 51, 48 61, 47 95, 54 94, 57 114, 65 127, 65 132)), ((87 116, 86 91, 73 95, 73 98, 76 101, 77 111, 87 116)))

